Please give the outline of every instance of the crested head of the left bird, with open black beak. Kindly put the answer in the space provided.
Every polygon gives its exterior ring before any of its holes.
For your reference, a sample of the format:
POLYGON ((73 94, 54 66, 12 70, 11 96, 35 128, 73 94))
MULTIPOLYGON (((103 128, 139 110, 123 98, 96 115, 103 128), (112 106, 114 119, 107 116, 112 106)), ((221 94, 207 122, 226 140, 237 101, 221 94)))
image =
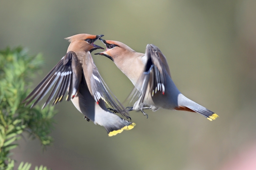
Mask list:
POLYGON ((90 51, 92 53, 92 51, 96 49, 104 49, 94 44, 95 41, 97 41, 100 37, 103 37, 103 36, 104 35, 77 34, 71 37, 67 37, 65 39, 67 39, 70 42, 68 51, 74 51, 74 52, 90 51))

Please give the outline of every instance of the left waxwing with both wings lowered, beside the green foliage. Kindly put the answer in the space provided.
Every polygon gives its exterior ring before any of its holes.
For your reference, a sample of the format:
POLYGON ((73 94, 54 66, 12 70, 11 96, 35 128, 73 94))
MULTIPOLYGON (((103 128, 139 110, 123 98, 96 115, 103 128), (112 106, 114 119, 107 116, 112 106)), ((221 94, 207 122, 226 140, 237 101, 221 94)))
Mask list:
POLYGON ((91 52, 104 49, 94 44, 102 36, 104 35, 83 33, 66 38, 70 42, 66 55, 23 100, 26 102, 25 105, 36 99, 31 105, 31 108, 34 107, 55 84, 42 109, 50 103, 58 91, 52 105, 61 102, 67 93, 66 100, 71 100, 87 121, 91 120, 94 124, 103 126, 108 136, 133 129, 135 123, 119 117, 106 108, 108 104, 121 115, 130 118, 126 115, 124 106, 109 90, 93 62, 91 52))

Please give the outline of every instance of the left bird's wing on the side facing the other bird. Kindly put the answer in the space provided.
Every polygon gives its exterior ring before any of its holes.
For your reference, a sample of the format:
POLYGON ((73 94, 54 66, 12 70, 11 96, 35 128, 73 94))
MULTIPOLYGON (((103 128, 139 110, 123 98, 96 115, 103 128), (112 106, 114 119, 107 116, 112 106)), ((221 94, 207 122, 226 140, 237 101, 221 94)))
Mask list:
POLYGON ((82 65, 86 84, 95 102, 99 103, 102 100, 108 104, 108 106, 116 109, 118 113, 128 118, 128 116, 125 115, 125 113, 127 113, 126 109, 110 91, 103 78, 100 76, 98 68, 94 64, 92 55, 89 51, 83 58, 82 65))

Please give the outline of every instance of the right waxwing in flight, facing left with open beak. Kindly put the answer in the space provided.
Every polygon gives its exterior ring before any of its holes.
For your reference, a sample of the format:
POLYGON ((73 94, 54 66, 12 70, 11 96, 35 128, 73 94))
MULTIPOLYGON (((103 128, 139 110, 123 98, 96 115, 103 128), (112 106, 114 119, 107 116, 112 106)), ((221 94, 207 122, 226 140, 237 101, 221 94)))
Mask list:
POLYGON ((114 64, 134 84, 129 98, 138 99, 133 107, 126 107, 128 111, 144 112, 144 109, 156 111, 160 108, 197 112, 209 119, 219 117, 216 113, 206 109, 196 102, 186 98, 174 84, 170 69, 164 54, 153 44, 146 46, 145 53, 138 53, 119 41, 100 41, 106 50, 96 53, 111 59, 114 64))

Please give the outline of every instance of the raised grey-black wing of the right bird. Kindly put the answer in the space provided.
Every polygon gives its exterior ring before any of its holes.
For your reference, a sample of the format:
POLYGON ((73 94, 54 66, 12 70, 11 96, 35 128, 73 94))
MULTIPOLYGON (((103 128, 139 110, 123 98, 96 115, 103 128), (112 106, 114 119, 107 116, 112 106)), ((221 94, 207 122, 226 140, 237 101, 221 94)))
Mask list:
POLYGON ((138 91, 135 89, 130 94, 131 101, 139 98, 137 104, 142 104, 148 93, 153 97, 156 93, 161 92, 164 95, 165 76, 170 76, 169 66, 162 52, 155 45, 148 44, 146 47, 145 57, 147 57, 144 72, 137 82, 138 91))

